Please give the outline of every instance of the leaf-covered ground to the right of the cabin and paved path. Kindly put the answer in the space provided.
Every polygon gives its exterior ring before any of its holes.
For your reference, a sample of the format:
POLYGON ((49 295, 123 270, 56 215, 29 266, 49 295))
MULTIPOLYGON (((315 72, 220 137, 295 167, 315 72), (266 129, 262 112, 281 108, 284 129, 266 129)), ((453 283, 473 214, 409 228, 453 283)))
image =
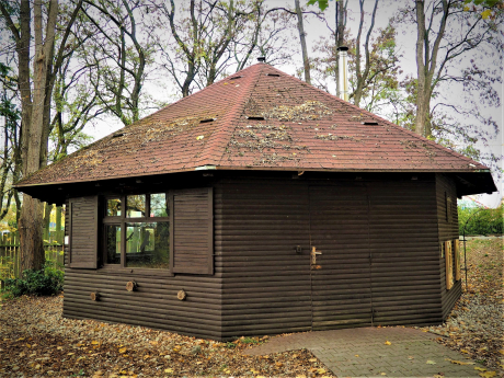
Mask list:
POLYGON ((425 328, 444 336, 437 339, 439 343, 485 365, 489 377, 504 377, 503 255, 503 238, 468 241, 468 285, 462 271, 462 297, 444 324, 425 328))

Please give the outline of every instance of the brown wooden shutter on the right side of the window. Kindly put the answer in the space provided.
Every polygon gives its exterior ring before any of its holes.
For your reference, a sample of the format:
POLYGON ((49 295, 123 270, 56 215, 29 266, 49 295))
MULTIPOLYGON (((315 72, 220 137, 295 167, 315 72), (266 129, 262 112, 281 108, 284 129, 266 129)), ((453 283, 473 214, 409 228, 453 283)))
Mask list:
POLYGON ((170 192, 170 268, 214 274, 211 187, 170 192))

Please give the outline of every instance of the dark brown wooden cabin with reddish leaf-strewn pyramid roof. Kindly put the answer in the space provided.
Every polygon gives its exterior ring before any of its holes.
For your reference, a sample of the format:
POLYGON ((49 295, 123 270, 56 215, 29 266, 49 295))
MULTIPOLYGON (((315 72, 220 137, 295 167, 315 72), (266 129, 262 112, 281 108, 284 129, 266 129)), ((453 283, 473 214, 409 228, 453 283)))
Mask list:
POLYGON ((486 167, 257 64, 16 184, 67 204, 64 317, 198 337, 442 322, 486 167))

